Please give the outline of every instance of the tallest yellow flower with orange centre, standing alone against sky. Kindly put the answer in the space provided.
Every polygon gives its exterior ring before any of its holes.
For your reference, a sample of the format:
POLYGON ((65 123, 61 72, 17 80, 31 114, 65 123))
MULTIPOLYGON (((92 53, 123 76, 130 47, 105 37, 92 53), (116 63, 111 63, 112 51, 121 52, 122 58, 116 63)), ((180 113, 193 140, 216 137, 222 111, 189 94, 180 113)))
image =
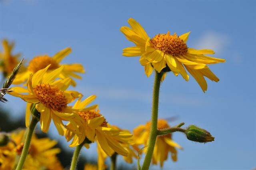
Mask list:
MULTIPOLYGON (((130 18, 128 23, 131 28, 122 26, 120 30, 136 46, 124 48, 123 55, 128 57, 141 56, 140 64, 144 66, 147 76, 150 76, 154 69, 161 72, 164 68, 169 68, 175 76, 181 74, 188 81, 187 70, 204 92, 207 90, 204 76, 212 81, 219 81, 207 64, 216 64, 225 62, 225 60, 205 55, 214 54, 213 50, 188 48, 186 41, 190 32, 180 36, 177 36, 176 33, 171 35, 170 32, 167 32, 167 34, 157 34, 154 38, 150 38, 136 20, 130 18)), ((165 76, 166 73, 162 80, 165 76)))

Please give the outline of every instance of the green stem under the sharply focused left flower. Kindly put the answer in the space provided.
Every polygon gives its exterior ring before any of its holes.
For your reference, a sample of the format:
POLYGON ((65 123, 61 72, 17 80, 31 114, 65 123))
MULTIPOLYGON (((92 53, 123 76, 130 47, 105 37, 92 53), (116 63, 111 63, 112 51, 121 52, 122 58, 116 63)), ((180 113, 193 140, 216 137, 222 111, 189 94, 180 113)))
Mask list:
POLYGON ((30 125, 27 128, 26 138, 25 138, 25 142, 24 142, 24 147, 22 149, 22 153, 21 153, 18 165, 16 167, 16 170, 22 170, 22 167, 24 165, 24 162, 25 162, 27 154, 28 154, 28 149, 29 149, 29 146, 30 146, 32 134, 34 132, 34 129, 36 127, 37 122, 38 122, 38 118, 36 118, 35 116, 32 116, 30 125))

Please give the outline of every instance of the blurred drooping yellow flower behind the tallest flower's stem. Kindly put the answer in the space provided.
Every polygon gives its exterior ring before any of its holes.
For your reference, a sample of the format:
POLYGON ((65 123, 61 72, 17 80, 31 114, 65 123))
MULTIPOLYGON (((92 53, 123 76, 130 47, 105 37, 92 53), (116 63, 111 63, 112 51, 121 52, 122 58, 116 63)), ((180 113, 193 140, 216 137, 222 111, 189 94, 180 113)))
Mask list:
MULTIPOLYGON (((143 144, 144 146, 148 146, 148 138, 150 134, 150 126, 151 122, 147 122, 146 125, 140 125, 134 129, 134 140, 136 144, 143 144)), ((159 119, 157 122, 158 130, 170 128, 168 122, 164 119, 159 119)), ((160 162, 160 166, 164 165, 164 161, 168 158, 168 153, 171 153, 171 158, 174 162, 177 161, 177 150, 182 149, 182 147, 172 140, 171 134, 158 136, 156 139, 156 145, 153 152, 152 163, 158 164, 160 162)), ((144 149, 146 152, 146 148, 144 149)))

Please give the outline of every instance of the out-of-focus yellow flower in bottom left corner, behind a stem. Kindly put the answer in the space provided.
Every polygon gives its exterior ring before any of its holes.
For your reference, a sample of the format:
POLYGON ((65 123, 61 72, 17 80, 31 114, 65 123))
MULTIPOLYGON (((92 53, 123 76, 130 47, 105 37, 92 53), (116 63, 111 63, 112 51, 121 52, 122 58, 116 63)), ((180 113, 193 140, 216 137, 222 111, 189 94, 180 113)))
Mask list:
MULTIPOLYGON (((23 149, 25 130, 17 130, 10 134, 10 142, 6 146, 0 147, 0 170, 11 170, 17 161, 18 155, 23 149)), ((37 138, 32 136, 28 157, 23 170, 41 169, 63 170, 56 154, 59 148, 53 148, 57 142, 49 138, 37 138)))

